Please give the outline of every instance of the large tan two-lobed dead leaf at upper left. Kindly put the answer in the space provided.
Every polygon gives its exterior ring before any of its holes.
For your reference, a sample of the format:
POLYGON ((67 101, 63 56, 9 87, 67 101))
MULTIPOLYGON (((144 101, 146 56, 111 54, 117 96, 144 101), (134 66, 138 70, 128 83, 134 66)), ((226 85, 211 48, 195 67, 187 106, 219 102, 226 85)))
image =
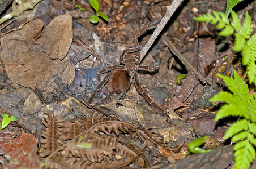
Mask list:
POLYGON ((41 32, 43 26, 36 19, 4 34, 0 58, 12 83, 46 95, 65 89, 75 77, 74 65, 64 58, 72 42, 72 16, 54 18, 41 32))

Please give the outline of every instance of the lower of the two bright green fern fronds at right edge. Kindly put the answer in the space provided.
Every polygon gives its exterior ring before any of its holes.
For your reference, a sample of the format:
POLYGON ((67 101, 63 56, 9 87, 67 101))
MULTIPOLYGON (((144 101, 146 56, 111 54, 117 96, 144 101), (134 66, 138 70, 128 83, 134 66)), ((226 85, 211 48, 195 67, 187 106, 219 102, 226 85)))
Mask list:
MULTIPOLYGON (((219 75, 219 74, 218 74, 219 75)), ((237 116, 242 119, 233 123, 226 131, 224 137, 231 138, 236 142, 234 146, 234 161, 236 168, 249 168, 255 158, 256 146, 256 94, 249 94, 248 85, 237 75, 234 70, 234 78, 219 75, 233 93, 219 92, 210 101, 225 101, 216 114, 215 121, 228 117, 237 116)))

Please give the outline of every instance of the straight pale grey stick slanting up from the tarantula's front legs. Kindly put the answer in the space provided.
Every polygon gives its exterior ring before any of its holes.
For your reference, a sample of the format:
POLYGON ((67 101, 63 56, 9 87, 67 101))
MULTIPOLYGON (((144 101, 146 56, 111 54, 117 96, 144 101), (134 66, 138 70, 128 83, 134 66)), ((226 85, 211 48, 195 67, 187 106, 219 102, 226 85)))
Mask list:
POLYGON ((167 6, 167 11, 162 18, 159 25, 157 25, 155 31, 151 35, 150 39, 146 43, 146 45, 142 48, 140 51, 140 62, 143 60, 144 56, 147 54, 148 50, 152 46, 153 42, 155 42, 156 38, 159 36, 161 31, 164 29, 164 26, 167 24, 167 22, 170 20, 170 17, 172 17, 174 11, 180 6, 182 0, 174 0, 170 6, 167 6))

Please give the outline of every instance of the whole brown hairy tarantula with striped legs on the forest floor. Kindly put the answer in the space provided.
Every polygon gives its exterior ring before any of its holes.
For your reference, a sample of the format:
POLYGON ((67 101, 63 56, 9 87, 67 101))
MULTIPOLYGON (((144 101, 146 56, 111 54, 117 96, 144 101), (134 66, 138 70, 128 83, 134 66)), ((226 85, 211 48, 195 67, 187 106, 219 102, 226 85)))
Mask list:
POLYGON ((131 48, 126 48, 123 50, 122 56, 120 57, 120 65, 108 66, 105 69, 99 70, 98 74, 103 74, 110 72, 104 78, 104 80, 97 86, 96 90, 93 92, 88 103, 92 103, 92 100, 96 96, 97 92, 101 90, 106 82, 110 79, 110 85, 113 88, 114 92, 121 94, 118 99, 121 99, 122 96, 125 96, 126 91, 129 89, 132 80, 134 79, 134 85, 137 88, 139 94, 141 94, 148 104, 152 108, 156 109, 157 112, 164 114, 165 110, 156 105, 153 100, 146 94, 144 89, 140 86, 138 70, 146 70, 150 72, 155 72, 159 69, 159 64, 155 63, 153 65, 140 65, 140 50, 142 46, 139 46, 138 37, 144 32, 150 29, 155 29, 156 25, 160 22, 161 18, 143 25, 140 29, 131 37, 130 46, 131 48))

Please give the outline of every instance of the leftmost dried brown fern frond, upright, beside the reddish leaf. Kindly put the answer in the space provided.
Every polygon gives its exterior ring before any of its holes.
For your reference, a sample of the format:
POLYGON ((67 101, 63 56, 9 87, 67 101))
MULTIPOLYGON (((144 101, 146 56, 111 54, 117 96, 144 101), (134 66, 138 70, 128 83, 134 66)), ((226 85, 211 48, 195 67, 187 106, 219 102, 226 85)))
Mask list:
POLYGON ((45 125, 45 131, 42 131, 41 134, 41 144, 44 148, 43 152, 40 153, 41 157, 46 157, 54 150, 59 149, 62 144, 59 140, 63 134, 63 122, 65 118, 63 117, 54 117, 48 113, 49 119, 44 119, 42 123, 45 125))

